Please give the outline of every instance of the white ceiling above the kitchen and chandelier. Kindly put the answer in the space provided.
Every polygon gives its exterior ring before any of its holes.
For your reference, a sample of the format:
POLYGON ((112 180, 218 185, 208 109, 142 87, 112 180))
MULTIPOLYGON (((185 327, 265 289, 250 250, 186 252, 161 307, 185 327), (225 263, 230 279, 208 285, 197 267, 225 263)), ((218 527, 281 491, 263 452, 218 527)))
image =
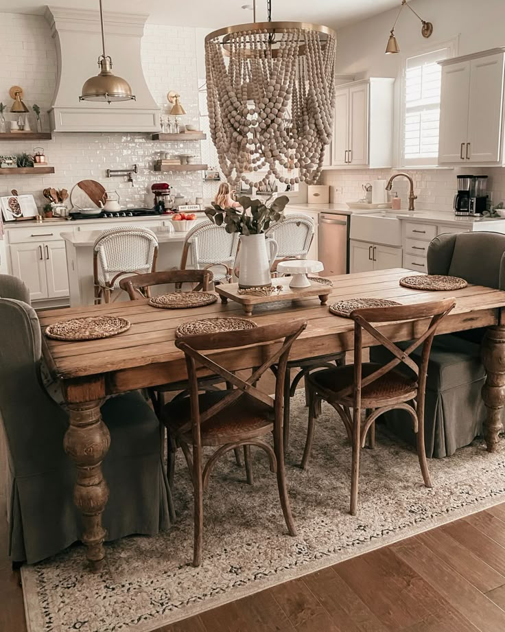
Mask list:
MULTIPOLYGON (((147 13, 151 23, 218 28, 253 21, 242 5, 253 0, 102 0, 104 11, 147 13)), ((0 12, 43 13, 37 0, 0 0, 0 12)), ((98 0, 56 0, 49 5, 91 9, 98 0)), ((257 20, 266 19, 266 0, 257 0, 257 20)), ((333 28, 401 5, 401 0, 272 0, 272 20, 306 21, 333 28)))

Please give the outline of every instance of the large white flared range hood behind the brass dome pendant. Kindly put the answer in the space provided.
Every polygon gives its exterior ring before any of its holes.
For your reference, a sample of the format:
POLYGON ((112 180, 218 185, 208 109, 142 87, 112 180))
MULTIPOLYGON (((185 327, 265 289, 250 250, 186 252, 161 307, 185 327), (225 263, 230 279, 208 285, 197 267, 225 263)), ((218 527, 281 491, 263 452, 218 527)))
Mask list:
POLYGON ((46 7, 58 56, 56 94, 49 117, 55 132, 156 132, 160 110, 142 71, 141 38, 147 15, 106 13, 104 25, 113 72, 124 77, 136 101, 79 101, 82 84, 99 68, 102 50, 98 11, 46 7))

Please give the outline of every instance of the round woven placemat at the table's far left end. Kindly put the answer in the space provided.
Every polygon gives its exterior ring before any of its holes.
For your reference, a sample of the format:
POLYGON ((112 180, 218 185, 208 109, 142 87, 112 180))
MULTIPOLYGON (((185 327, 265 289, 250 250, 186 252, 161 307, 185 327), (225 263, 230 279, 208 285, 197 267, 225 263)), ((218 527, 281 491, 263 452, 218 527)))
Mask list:
POLYGON ((81 340, 99 340, 117 336, 130 329, 130 321, 119 316, 86 316, 72 318, 49 325, 45 330, 47 338, 79 342, 81 340))

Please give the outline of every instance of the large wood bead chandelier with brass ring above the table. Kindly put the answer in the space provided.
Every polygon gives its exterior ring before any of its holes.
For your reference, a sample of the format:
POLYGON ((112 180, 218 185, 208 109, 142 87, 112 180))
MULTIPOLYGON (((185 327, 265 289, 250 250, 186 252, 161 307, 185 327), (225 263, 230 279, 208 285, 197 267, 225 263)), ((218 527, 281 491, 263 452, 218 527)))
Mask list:
POLYGON ((268 22, 205 38, 211 137, 228 183, 318 181, 331 140, 335 54, 334 31, 272 22, 270 1, 268 22))

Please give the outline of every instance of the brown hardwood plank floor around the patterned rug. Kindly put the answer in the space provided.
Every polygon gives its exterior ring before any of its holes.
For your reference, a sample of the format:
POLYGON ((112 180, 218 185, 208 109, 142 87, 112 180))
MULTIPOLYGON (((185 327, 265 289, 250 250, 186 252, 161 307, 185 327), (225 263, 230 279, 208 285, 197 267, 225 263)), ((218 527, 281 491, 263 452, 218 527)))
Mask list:
MULTIPOLYGON (((0 631, 26 632, 7 537, 1 519, 0 631)), ((156 632, 295 631, 504 632, 505 503, 156 632)))

